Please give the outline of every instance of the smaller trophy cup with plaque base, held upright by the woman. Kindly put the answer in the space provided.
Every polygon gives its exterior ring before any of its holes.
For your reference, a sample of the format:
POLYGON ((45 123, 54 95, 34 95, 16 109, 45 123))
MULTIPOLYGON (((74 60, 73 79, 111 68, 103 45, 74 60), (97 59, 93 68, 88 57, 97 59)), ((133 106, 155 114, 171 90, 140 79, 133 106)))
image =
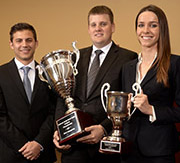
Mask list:
POLYGON ((118 91, 108 91, 110 85, 105 83, 101 88, 102 105, 107 112, 108 118, 112 120, 112 134, 106 140, 101 140, 100 151, 104 153, 122 153, 122 144, 125 139, 122 138, 122 123, 128 118, 128 93, 118 91), (106 97, 106 106, 104 104, 104 96, 106 97))

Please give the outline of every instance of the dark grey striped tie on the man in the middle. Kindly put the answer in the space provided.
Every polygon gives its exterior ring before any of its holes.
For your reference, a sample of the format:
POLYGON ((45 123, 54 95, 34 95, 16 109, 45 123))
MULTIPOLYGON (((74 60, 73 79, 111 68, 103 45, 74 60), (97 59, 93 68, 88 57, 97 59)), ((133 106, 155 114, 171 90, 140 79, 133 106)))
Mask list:
POLYGON ((94 84, 94 80, 96 78, 96 75, 99 71, 99 55, 103 53, 102 50, 96 50, 95 51, 96 56, 93 60, 93 63, 91 65, 90 71, 88 73, 88 80, 87 80, 87 97, 89 96, 89 92, 94 84))

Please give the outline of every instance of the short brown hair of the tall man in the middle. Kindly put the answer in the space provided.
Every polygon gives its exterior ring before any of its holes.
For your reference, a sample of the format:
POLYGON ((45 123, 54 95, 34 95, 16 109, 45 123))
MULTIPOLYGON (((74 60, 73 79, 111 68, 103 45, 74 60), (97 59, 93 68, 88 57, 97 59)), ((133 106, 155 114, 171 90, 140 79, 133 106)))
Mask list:
POLYGON ((88 13, 88 23, 89 23, 90 15, 96 15, 96 14, 108 14, 111 23, 112 24, 114 23, 114 15, 109 7, 103 5, 93 7, 88 13))

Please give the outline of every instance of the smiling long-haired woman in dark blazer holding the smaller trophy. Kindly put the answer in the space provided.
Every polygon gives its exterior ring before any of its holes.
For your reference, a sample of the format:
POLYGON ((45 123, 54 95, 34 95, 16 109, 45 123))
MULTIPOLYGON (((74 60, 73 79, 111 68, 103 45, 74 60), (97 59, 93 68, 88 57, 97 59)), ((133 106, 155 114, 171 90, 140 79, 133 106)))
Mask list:
POLYGON ((180 122, 180 57, 171 54, 167 18, 157 6, 140 10, 136 34, 141 53, 122 73, 123 91, 134 96, 128 103, 130 112, 136 108, 123 129, 126 140, 133 142, 133 150, 122 161, 174 163, 180 147, 175 127, 180 122), (137 95, 134 83, 141 86, 137 95))

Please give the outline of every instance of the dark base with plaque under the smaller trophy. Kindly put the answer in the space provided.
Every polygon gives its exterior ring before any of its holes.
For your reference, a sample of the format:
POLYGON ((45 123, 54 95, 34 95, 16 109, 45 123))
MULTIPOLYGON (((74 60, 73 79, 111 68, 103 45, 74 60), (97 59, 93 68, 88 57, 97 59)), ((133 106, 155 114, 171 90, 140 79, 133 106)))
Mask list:
POLYGON ((109 141, 101 140, 100 142, 100 151, 107 154, 127 154, 132 150, 131 142, 118 142, 118 141, 109 141))

